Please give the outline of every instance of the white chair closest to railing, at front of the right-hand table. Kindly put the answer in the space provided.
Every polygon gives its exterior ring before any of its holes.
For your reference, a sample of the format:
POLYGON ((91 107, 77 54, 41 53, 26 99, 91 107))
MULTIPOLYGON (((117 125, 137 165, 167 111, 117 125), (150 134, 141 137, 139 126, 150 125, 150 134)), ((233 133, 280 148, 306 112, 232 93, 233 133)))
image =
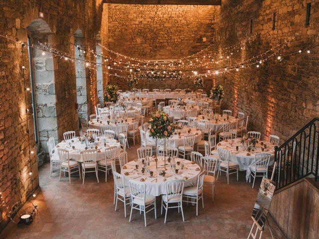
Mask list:
MULTIPOLYGON (((253 187, 255 185, 255 179, 256 177, 264 177, 268 178, 268 165, 270 160, 270 153, 256 153, 255 154, 255 161, 252 165, 249 166, 250 169, 250 175, 249 177, 253 177, 253 187), (262 175, 257 175, 258 173, 262 175)), ((250 180, 250 178, 249 178, 250 180)))

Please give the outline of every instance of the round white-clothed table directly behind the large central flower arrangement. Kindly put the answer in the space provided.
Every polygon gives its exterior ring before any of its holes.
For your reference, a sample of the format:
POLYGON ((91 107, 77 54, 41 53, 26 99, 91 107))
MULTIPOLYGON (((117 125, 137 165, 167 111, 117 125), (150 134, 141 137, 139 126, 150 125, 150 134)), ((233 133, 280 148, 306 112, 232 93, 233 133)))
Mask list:
MULTIPOLYGON (((189 134, 194 134, 195 135, 195 140, 194 144, 198 143, 202 139, 202 134, 201 131, 197 128, 192 128, 192 127, 185 127, 184 129, 177 130, 181 131, 180 136, 178 133, 173 134, 171 137, 169 137, 168 140, 168 147, 174 147, 178 148, 179 146, 184 145, 184 136, 189 135, 187 130, 190 129, 189 134)), ((151 137, 149 134, 149 131, 147 132, 147 140, 151 142, 155 142, 155 138, 151 137)))

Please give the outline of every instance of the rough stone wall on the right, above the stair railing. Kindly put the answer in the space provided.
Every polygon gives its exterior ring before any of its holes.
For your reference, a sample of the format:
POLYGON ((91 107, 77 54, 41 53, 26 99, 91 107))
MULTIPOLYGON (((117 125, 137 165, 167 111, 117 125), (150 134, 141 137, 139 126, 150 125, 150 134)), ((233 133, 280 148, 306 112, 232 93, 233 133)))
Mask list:
MULTIPOLYGON (((230 64, 256 56, 300 32, 285 51, 318 44, 319 6, 312 2, 310 25, 305 26, 304 0, 223 0, 216 19, 216 41, 219 48, 230 46, 250 34, 259 37, 234 52, 230 64), (273 13, 275 30, 272 30, 273 13)), ((284 52, 285 52, 284 51, 284 52)), ((311 54, 272 60, 260 68, 245 68, 215 77, 225 87, 224 108, 249 116, 248 129, 262 132, 262 137, 276 134, 281 142, 319 116, 318 49, 311 54)))

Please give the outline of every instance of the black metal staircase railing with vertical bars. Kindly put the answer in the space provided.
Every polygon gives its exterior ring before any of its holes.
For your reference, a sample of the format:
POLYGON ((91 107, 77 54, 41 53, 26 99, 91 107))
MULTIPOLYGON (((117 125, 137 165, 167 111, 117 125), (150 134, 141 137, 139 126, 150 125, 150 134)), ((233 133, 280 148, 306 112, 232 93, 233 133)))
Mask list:
POLYGON ((314 118, 281 146, 275 146, 276 190, 305 177, 318 179, 319 118, 314 118))

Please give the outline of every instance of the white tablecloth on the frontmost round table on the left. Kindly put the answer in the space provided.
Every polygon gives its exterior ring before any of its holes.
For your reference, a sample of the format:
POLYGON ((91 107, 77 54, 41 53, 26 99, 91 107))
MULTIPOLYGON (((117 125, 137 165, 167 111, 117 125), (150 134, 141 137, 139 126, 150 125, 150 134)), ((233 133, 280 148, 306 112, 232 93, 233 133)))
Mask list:
MULTIPOLYGON (((97 150, 98 150, 98 155, 97 155, 97 161, 102 160, 105 158, 105 149, 112 147, 112 146, 117 146, 118 150, 116 152, 116 156, 118 156, 121 153, 121 145, 120 143, 115 140, 115 139, 109 139, 106 137, 98 137, 99 141, 96 141, 93 145, 93 148, 95 148, 95 145, 98 146, 97 150), (104 146, 104 142, 106 142, 106 146, 104 146)), ((71 140, 68 140, 68 142, 65 142, 64 140, 61 141, 60 143, 58 143, 55 146, 55 150, 54 150, 54 157, 59 158, 58 155, 58 148, 62 148, 62 149, 66 149, 69 151, 69 157, 75 161, 78 162, 83 162, 82 159, 82 154, 80 153, 81 151, 85 150, 86 144, 85 143, 81 143, 80 141, 78 141, 78 139, 73 139, 73 143, 71 142, 71 140), (71 146, 69 145, 69 143, 71 143, 71 146), (72 146, 75 147, 75 149, 72 149, 72 146)))

